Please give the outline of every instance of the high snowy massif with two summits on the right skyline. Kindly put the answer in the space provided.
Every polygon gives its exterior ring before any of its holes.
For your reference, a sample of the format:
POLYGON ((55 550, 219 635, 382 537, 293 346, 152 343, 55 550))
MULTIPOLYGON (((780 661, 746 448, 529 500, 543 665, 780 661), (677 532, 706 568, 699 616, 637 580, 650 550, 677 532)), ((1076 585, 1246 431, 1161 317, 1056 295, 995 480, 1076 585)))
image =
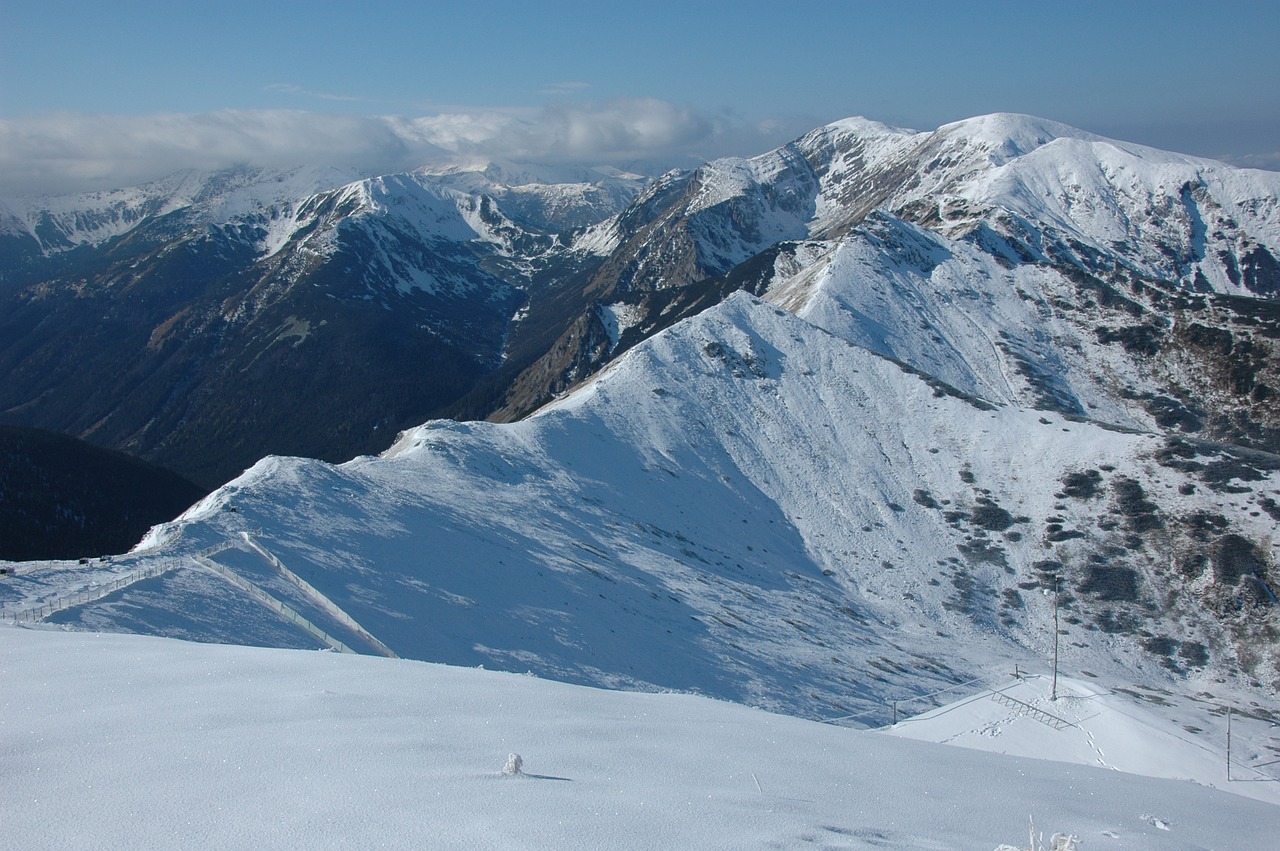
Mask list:
POLYGON ((1190 287, 1199 274, 1233 294, 1253 293, 1224 256, 1252 244, 1280 253, 1280 174, 1030 115, 997 113, 932 132, 846 119, 756 157, 714 160, 698 175, 684 212, 717 270, 778 241, 841 237, 877 209, 937 209, 937 229, 955 238, 979 223, 1004 232, 1011 219, 1060 252, 1119 251, 1144 275, 1190 287))

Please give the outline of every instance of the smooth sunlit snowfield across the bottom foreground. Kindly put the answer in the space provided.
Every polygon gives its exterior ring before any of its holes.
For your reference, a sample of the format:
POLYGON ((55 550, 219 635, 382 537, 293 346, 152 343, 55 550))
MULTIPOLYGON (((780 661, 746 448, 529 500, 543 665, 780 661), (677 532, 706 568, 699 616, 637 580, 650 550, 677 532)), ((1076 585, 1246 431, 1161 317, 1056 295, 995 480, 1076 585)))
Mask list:
POLYGON ((1280 809, 691 695, 0 627, 6 847, 1265 848, 1280 809), (504 773, 511 755, 518 774, 504 773))

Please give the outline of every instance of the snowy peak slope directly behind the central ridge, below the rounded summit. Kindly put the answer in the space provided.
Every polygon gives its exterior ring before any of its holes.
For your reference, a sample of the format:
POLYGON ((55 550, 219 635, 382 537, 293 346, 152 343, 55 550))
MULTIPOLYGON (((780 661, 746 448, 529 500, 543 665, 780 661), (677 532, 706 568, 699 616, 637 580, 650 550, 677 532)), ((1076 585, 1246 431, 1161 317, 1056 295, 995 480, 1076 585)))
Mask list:
POLYGON ((1143 379, 1128 375, 1092 328, 1082 331, 1053 311, 1055 298, 1073 292, 1053 269, 1010 267, 972 242, 884 212, 840 241, 809 243, 797 265, 765 297, 841 339, 984 399, 1043 407, 1048 381, 1060 410, 1126 427, 1153 425, 1110 392, 1117 371, 1129 385, 1143 379), (1043 378, 1033 383, 1027 365, 1043 378))

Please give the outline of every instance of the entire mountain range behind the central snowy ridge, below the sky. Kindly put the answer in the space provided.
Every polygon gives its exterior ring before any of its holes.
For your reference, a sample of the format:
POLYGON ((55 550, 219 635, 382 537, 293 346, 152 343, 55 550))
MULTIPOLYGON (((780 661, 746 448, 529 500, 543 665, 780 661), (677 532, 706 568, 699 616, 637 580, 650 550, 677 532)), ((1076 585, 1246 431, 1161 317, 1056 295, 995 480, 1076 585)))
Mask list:
POLYGON ((517 418, 748 289, 992 399, 1280 448, 1275 173, 991 115, 837 122, 648 184, 351 177, 9 202, 0 421, 212 486, 517 418))

